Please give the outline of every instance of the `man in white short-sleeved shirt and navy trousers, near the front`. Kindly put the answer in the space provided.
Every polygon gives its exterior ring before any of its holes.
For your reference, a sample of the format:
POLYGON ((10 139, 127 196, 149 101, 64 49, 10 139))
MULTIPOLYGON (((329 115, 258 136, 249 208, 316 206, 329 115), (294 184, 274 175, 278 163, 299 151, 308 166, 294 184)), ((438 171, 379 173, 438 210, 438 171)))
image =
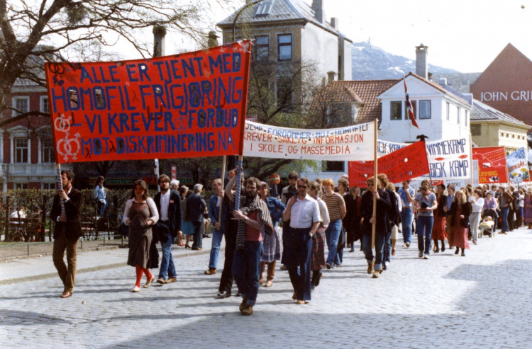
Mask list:
POLYGON ((306 193, 309 186, 309 178, 299 178, 297 195, 288 200, 282 214, 283 221, 290 220, 283 235, 287 234, 286 263, 295 290, 292 298, 297 299, 297 304, 306 304, 311 299, 312 236, 321 222, 318 202, 306 193))

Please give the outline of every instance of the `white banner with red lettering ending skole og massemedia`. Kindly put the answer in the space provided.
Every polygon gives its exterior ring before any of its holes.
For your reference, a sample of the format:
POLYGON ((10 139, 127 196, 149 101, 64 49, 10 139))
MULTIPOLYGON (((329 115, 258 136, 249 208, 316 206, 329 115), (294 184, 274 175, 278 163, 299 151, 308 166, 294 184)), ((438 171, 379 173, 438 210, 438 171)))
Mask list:
POLYGON ((245 122, 244 156, 305 160, 372 160, 375 122, 333 129, 294 129, 245 122))

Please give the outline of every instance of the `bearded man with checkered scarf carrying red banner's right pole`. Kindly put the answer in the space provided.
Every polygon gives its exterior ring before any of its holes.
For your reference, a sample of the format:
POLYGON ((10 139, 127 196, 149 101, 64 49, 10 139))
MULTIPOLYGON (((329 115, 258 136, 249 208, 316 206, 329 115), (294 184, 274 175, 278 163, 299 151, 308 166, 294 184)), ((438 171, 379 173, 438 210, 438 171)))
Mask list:
MULTIPOLYGON (((236 177, 240 171, 242 168, 238 168, 236 177)), ((266 202, 260 200, 258 195, 260 181, 250 177, 245 180, 244 187, 245 195, 240 200, 240 208, 235 207, 233 212, 233 217, 238 219, 238 231, 232 269, 243 298, 240 314, 251 315, 259 291, 262 229, 266 234, 272 234, 273 224, 266 202)))

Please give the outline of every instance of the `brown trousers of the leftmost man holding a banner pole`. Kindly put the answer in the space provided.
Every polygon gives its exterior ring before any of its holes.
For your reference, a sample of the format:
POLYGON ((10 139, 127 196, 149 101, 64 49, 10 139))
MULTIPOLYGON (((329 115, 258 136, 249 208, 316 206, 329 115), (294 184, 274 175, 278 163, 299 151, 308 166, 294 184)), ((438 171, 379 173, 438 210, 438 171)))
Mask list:
MULTIPOLYGON (((57 223, 59 224, 59 223, 57 223)), ((70 292, 74 290, 76 284, 76 265, 77 265, 77 241, 69 240, 65 237, 65 231, 56 231, 54 238, 54 246, 52 252, 52 260, 57 269, 57 273, 65 286, 63 292, 70 292), (63 260, 65 256, 65 250, 67 250, 67 265, 63 260)))

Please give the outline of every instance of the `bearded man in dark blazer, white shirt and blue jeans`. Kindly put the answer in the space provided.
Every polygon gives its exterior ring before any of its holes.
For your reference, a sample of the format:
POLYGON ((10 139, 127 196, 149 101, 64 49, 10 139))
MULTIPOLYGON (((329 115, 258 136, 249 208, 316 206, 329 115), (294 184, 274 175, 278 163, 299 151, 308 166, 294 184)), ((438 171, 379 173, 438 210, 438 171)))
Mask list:
POLYGON ((172 241, 182 235, 181 227, 181 198, 177 191, 170 189, 170 178, 165 174, 157 181, 161 189, 155 194, 155 206, 159 212, 159 220, 153 227, 161 241, 162 259, 157 282, 164 285, 177 281, 174 257, 172 256, 172 241), (167 278, 168 277, 168 278, 167 278))

